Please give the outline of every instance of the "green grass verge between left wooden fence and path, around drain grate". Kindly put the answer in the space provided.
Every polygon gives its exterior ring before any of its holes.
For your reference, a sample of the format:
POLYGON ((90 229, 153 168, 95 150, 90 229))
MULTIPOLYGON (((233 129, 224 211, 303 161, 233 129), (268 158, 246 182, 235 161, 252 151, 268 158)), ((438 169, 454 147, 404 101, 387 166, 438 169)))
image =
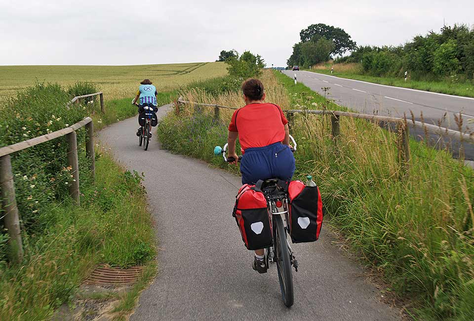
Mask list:
POLYGON ((137 173, 97 155, 95 183, 81 205, 52 203, 47 228, 25 238, 19 266, 0 267, 0 320, 48 320, 99 263, 127 267, 153 259, 154 232, 137 173))

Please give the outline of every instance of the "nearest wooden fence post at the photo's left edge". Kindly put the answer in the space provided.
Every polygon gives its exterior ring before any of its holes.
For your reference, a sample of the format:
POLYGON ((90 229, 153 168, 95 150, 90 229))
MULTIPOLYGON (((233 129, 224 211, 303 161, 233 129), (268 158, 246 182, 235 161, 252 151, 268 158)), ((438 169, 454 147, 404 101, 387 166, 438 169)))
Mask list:
POLYGON ((0 157, 0 203, 4 210, 4 224, 8 230, 10 240, 10 260, 21 262, 23 260, 23 243, 21 240, 20 219, 15 199, 15 185, 11 171, 10 155, 0 157))

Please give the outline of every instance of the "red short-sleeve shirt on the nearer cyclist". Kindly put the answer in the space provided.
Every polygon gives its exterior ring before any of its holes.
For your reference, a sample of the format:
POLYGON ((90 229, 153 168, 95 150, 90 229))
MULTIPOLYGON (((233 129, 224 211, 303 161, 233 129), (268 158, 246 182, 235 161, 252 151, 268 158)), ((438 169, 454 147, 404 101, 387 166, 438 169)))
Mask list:
POLYGON ((285 138, 288 123, 281 108, 275 104, 254 103, 237 109, 232 115, 229 131, 238 132, 242 150, 265 147, 285 138))

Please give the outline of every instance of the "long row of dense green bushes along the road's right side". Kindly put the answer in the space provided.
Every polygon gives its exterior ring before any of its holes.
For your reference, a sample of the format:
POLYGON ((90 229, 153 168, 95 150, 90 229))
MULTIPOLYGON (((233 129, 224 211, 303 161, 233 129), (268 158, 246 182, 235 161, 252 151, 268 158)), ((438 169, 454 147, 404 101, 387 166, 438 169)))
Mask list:
POLYGON ((474 27, 444 26, 439 33, 416 36, 399 46, 359 46, 350 56, 336 62, 361 63, 373 76, 402 76, 437 79, 446 76, 474 78, 474 27))

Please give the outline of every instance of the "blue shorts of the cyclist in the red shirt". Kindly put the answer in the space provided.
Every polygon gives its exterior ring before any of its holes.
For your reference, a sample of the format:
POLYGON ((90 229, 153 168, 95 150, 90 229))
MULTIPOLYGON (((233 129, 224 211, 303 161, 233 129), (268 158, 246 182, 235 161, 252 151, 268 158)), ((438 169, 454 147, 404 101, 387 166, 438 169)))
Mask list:
POLYGON ((295 158, 288 145, 282 143, 247 148, 240 161, 240 172, 242 184, 270 178, 289 180, 295 173, 295 158))

